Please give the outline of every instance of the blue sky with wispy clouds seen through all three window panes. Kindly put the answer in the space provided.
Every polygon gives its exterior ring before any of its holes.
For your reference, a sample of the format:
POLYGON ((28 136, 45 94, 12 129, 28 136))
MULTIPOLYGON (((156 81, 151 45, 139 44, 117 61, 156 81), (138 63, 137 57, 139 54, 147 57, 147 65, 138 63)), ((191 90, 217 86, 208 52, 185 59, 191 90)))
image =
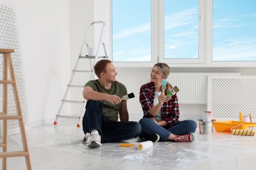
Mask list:
MULTIPOLYGON (((113 0, 114 61, 150 61, 149 0, 113 0), (132 9, 132 10, 131 10, 132 9)), ((256 60, 256 1, 213 0, 213 60, 256 60)), ((198 1, 165 1, 165 58, 198 58, 198 1)))

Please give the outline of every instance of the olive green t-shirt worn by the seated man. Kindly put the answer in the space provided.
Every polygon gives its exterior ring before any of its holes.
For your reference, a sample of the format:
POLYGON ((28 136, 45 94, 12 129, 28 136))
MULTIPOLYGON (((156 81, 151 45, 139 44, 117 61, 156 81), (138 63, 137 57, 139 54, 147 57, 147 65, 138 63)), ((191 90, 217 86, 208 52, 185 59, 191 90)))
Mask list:
MULTIPOLYGON (((112 82, 112 86, 109 90, 106 90, 102 86, 100 86, 100 83, 97 80, 90 80, 85 84, 85 86, 91 87, 96 92, 100 93, 107 93, 110 95, 118 95, 120 98, 123 97, 123 95, 127 95, 127 89, 126 87, 121 84, 121 82, 112 82)), ((102 114, 101 116, 103 118, 110 118, 111 120, 117 121, 118 120, 118 113, 121 109, 121 103, 117 105, 112 105, 108 101, 100 101, 102 105, 102 114)))

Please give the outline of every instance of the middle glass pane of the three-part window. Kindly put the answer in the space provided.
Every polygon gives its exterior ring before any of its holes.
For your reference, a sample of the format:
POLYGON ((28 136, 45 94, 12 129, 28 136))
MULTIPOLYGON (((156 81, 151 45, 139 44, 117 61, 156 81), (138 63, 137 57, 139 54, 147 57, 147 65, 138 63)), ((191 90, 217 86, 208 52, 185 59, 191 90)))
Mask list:
POLYGON ((198 58, 198 1, 165 0, 165 58, 198 58))

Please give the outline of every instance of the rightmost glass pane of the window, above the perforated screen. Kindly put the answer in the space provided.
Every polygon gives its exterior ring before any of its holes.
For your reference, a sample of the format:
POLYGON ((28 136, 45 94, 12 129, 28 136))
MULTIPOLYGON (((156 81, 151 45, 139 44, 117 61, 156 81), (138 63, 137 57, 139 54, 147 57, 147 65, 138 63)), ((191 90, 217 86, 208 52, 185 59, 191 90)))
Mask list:
POLYGON ((256 61, 255 7, 255 0, 213 0, 213 61, 256 61))

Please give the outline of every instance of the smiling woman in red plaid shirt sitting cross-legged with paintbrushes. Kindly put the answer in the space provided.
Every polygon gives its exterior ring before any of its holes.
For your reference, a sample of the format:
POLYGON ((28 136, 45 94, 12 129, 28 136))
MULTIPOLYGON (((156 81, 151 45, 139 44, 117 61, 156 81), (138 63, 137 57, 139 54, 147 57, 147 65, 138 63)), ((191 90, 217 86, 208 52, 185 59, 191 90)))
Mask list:
POLYGON ((166 96, 172 86, 167 82, 165 92, 161 92, 161 81, 169 76, 169 66, 156 63, 150 73, 150 82, 140 87, 140 104, 144 116, 140 137, 148 141, 192 142, 196 131, 194 120, 179 121, 177 95, 166 96))

